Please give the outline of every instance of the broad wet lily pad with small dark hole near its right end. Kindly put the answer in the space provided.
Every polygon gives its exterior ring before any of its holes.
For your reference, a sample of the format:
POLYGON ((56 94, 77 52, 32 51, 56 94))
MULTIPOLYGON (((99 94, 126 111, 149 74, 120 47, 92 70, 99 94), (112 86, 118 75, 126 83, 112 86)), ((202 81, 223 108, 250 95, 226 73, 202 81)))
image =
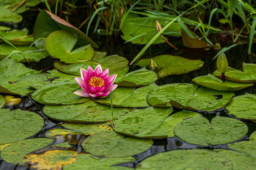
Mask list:
POLYGON ((174 83, 159 86, 147 95, 147 102, 155 107, 169 107, 188 110, 212 111, 224 107, 234 95, 233 92, 199 89, 197 84, 174 83))

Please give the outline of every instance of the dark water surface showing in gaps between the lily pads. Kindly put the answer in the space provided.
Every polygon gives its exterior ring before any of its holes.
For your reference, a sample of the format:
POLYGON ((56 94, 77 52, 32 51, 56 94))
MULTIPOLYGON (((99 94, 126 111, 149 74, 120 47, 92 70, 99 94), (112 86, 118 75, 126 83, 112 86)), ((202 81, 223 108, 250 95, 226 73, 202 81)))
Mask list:
MULTIPOLYGON (((100 51, 106 51, 107 55, 112 54, 119 54, 120 56, 126 57, 129 62, 137 55, 137 53, 143 48, 143 45, 133 45, 130 43, 124 44, 123 40, 120 39, 111 39, 111 41, 107 40, 106 38, 97 37, 98 43, 101 47, 100 51), (123 45, 124 44, 124 45, 123 45)), ((97 38, 94 38, 94 40, 97 38)), ((190 48, 184 48, 182 45, 182 39, 181 38, 172 38, 170 39, 170 42, 174 43, 175 46, 179 48, 179 50, 174 51, 170 46, 167 44, 156 44, 152 45, 145 53, 143 58, 151 58, 162 54, 172 54, 175 56, 181 56, 188 59, 201 59, 204 61, 204 65, 199 70, 192 71, 187 74, 183 75, 171 75, 164 78, 161 78, 156 82, 157 85, 165 85, 170 83, 192 83, 192 79, 197 76, 204 76, 208 73, 213 73, 213 71, 216 70, 215 62, 216 59, 212 61, 212 58, 217 54, 218 51, 210 49, 209 51, 203 50, 203 49, 190 49, 190 48)), ((224 47, 224 45, 223 45, 224 47)), ((233 49, 230 49, 226 52, 229 66, 232 68, 240 69, 242 67, 242 63, 255 63, 256 59, 252 56, 247 55, 247 45, 240 45, 233 49)), ((53 63, 56 59, 53 59, 51 57, 48 57, 46 59, 41 60, 40 62, 34 62, 30 64, 25 64, 28 68, 33 68, 37 70, 43 70, 43 72, 47 72, 47 70, 54 69, 53 63)), ((131 66, 130 70, 138 69, 139 67, 136 65, 131 66)), ((242 95, 245 93, 253 93, 256 94, 256 85, 249 87, 247 89, 235 92, 235 95, 242 95)), ((5 93, 0 93, 2 95, 7 95, 5 93)), ((20 97, 20 96, 18 96, 20 97)), ((54 128, 63 128, 61 125, 59 125, 61 122, 56 121, 54 119, 50 119, 44 115, 42 112, 44 104, 37 103, 33 101, 30 97, 30 95, 27 96, 21 96, 21 102, 11 107, 11 110, 21 109, 21 110, 29 110, 36 112, 37 114, 41 115, 45 120, 45 126, 42 128, 42 130, 37 133, 36 135, 32 136, 34 137, 45 137, 45 132, 50 129, 54 128)), ((4 108, 9 108, 4 106, 4 108)), ((174 108, 174 112, 180 111, 179 109, 174 108)), ((216 115, 224 116, 224 117, 232 117, 235 118, 232 115, 229 115, 228 111, 225 110, 225 108, 214 110, 211 112, 205 112, 205 111, 198 111, 201 115, 203 115, 205 118, 211 120, 216 115)), ((172 114, 173 114, 172 113, 172 114)), ((237 119, 237 118, 235 118, 237 119)), ((243 138, 239 139, 241 140, 248 140, 249 135, 256 131, 256 123, 249 121, 249 120, 242 120, 247 127, 249 128, 248 133, 243 138)), ((72 142, 74 145, 74 149, 78 152, 82 153, 84 152, 82 149, 82 141, 87 136, 84 135, 70 135, 66 136, 65 138, 56 138, 55 144, 61 143, 64 141, 72 142)), ((236 142, 238 142, 236 141, 236 142)), ((235 142, 234 142, 235 143, 235 142)), ((167 139, 157 139, 154 140, 154 144, 152 147, 150 147, 148 150, 146 150, 143 153, 139 153, 137 155, 134 155, 134 158, 136 158, 136 161, 132 161, 129 163, 123 163, 119 164, 121 166, 128 166, 128 167, 137 167, 139 162, 143 161, 149 156, 152 156, 156 153, 166 152, 170 150, 176 150, 176 149, 193 149, 193 148, 204 148, 204 149, 229 149, 228 144, 219 144, 219 145, 208 145, 208 146, 201 146, 196 144, 189 144, 178 137, 171 137, 167 139)), ((2 158, 0 158, 0 170, 28 170, 26 166, 21 165, 15 165, 8 163, 6 161, 3 161, 2 158)))

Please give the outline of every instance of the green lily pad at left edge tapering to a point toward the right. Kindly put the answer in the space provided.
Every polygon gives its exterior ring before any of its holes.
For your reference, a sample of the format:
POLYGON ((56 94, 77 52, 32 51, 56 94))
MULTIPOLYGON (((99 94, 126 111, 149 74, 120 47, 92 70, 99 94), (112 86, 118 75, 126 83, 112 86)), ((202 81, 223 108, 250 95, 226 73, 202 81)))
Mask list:
POLYGON ((0 84, 8 81, 15 82, 20 77, 40 72, 41 71, 26 68, 15 59, 0 60, 0 84))

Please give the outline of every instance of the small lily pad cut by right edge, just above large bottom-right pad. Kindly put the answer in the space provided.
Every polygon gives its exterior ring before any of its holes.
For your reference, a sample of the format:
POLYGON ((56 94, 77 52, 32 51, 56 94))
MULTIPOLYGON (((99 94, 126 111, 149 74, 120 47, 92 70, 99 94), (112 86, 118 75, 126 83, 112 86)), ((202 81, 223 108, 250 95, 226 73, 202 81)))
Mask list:
POLYGON ((256 131, 250 135, 249 141, 241 141, 234 144, 229 144, 231 149, 237 150, 256 158, 256 131))

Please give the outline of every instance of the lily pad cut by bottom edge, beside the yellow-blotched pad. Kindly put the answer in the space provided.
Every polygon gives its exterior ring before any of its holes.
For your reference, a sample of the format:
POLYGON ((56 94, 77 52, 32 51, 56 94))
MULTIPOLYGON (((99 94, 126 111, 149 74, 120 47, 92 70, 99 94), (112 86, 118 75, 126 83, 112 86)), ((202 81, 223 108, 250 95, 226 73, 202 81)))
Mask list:
MULTIPOLYGON (((78 156, 73 164, 64 165, 63 170, 113 170, 118 166, 112 165, 130 161, 135 161, 135 159, 131 156, 125 158, 99 158, 92 156, 91 154, 84 154, 78 156)), ((120 170, 131 169, 123 166, 120 168, 120 170)))

